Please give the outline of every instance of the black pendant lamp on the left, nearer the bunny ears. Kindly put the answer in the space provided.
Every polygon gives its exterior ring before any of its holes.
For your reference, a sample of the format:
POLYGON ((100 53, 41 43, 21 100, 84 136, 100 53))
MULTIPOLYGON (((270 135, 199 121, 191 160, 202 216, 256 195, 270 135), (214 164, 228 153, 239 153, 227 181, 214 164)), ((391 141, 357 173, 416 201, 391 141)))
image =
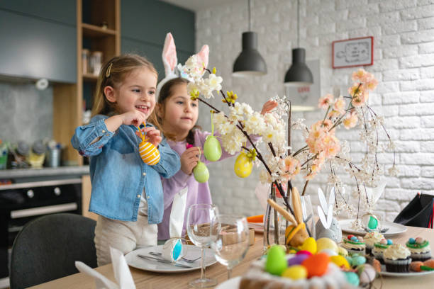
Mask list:
POLYGON ((252 77, 267 74, 267 64, 257 51, 257 33, 250 31, 250 0, 248 0, 249 31, 243 32, 243 51, 233 64, 234 77, 252 77))

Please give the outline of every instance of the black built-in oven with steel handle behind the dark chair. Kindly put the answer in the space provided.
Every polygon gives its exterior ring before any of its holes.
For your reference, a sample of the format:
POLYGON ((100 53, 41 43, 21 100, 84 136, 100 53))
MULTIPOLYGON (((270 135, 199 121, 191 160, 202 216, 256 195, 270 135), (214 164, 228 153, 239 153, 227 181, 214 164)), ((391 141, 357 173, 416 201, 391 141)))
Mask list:
POLYGON ((0 186, 0 278, 9 276, 13 240, 30 220, 55 212, 82 213, 82 179, 0 186))

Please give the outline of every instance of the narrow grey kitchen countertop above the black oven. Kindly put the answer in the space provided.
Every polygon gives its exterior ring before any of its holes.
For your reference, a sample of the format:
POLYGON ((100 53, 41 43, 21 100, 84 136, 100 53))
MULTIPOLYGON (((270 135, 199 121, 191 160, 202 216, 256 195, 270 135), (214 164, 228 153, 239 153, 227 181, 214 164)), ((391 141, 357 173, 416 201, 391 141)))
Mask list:
POLYGON ((58 166, 41 169, 4 169, 0 170, 0 179, 18 179, 50 176, 82 176, 89 174, 89 166, 58 166))

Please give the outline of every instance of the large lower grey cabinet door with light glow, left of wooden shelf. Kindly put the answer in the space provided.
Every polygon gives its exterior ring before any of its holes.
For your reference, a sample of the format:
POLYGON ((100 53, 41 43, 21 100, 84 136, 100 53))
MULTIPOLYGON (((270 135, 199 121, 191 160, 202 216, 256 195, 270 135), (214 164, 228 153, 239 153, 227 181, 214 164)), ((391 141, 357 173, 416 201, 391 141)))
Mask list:
POLYGON ((26 16, 0 6, 0 74, 75 83, 76 29, 75 24, 26 16))

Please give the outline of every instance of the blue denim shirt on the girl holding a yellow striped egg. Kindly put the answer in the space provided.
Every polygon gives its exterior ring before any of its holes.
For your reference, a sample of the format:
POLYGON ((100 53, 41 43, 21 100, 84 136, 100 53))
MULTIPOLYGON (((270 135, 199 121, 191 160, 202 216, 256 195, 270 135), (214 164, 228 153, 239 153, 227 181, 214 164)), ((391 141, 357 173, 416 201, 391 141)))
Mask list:
POLYGON ((164 211, 160 176, 170 178, 177 173, 181 167, 179 155, 163 140, 158 146, 160 162, 148 166, 140 158, 137 128, 121 125, 110 132, 104 123, 106 118, 95 115, 88 125, 78 127, 71 139, 72 147, 90 157, 89 211, 110 219, 136 221, 145 187, 148 222, 160 223, 164 211))

